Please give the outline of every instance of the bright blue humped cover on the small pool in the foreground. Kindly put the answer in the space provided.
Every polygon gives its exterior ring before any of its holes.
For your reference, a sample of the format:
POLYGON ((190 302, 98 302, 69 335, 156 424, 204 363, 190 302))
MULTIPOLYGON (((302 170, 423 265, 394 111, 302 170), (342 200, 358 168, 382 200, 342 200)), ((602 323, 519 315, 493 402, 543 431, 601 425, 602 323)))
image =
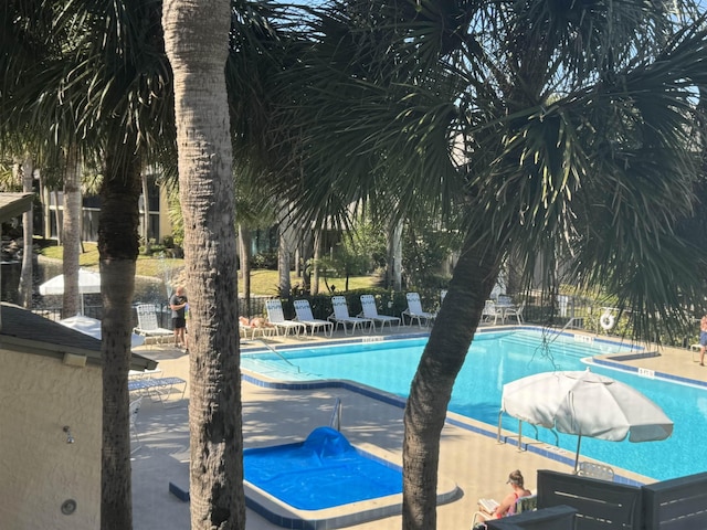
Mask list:
POLYGON ((296 444, 243 452, 245 480, 299 510, 321 510, 402 492, 402 473, 356 449, 330 427, 296 444))

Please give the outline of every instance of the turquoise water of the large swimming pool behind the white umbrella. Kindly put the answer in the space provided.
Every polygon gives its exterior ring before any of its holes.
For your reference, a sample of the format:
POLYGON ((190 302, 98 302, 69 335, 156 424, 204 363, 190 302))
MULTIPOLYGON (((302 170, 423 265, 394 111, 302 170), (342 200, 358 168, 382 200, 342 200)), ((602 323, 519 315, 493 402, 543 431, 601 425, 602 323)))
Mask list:
MULTIPOLYGON (((583 370, 582 359, 627 351, 629 347, 572 336, 548 336, 516 330, 478 333, 462 368, 450 402, 450 411, 495 427, 498 423, 503 385, 532 373, 552 370, 583 370)), ((370 343, 298 348, 272 353, 243 354, 242 367, 283 380, 347 379, 407 396, 426 338, 370 343)), ((583 438, 582 455, 611 466, 664 480, 707 470, 704 433, 707 427, 707 389, 647 379, 592 365, 592 371, 623 381, 655 401, 675 423, 666 441, 633 444, 583 438)), ((505 416, 504 427, 517 432, 518 422, 505 416)), ((524 424, 524 437, 559 445, 573 452, 577 437, 524 424)))

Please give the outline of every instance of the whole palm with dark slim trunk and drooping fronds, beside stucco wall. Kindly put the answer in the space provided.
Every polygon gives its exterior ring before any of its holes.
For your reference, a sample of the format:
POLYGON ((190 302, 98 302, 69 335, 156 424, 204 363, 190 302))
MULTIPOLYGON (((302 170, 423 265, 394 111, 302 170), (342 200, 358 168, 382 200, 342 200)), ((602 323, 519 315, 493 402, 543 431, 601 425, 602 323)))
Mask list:
POLYGON ((131 526, 127 374, 139 174, 173 141, 160 10, 158 0, 12 0, 1 12, 11 30, 3 36, 14 40, 0 65, 3 96, 11 96, 0 98, 3 125, 105 161, 98 229, 104 529, 131 526))

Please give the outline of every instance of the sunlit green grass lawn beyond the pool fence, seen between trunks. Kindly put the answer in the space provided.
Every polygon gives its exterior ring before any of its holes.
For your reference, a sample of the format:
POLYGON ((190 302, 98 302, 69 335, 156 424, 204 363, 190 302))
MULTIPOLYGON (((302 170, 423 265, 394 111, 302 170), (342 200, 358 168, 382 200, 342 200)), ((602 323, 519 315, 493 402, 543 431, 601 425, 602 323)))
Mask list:
MULTIPOLYGON (((82 267, 97 271, 98 269, 98 247, 96 243, 84 243, 84 252, 78 256, 78 264, 82 267)), ((62 246, 48 246, 41 251, 43 256, 62 259, 64 248, 62 246)), ((136 274, 138 276, 150 276, 154 278, 163 278, 165 271, 169 271, 168 276, 173 277, 172 271, 179 271, 184 266, 183 259, 158 258, 151 256, 138 256, 136 264, 136 274)), ((277 271, 255 269, 251 272, 251 294, 274 296, 277 294, 277 271)), ((294 273, 291 274, 293 287, 302 282, 294 273)), ((324 292, 326 285, 320 280, 319 290, 324 292)), ((337 292, 342 292, 346 285, 345 278, 327 278, 329 286, 335 285, 337 292)), ((376 278, 373 276, 352 276, 349 278, 349 289, 368 289, 373 286, 376 278)), ((239 292, 243 292, 243 282, 239 276, 239 292)))

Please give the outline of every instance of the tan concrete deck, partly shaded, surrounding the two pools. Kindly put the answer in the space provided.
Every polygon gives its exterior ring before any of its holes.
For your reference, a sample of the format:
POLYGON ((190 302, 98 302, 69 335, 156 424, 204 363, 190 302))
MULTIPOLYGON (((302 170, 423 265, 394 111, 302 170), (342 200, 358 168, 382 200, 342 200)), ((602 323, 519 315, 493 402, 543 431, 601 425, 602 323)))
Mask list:
MULTIPOLYGON (((414 333, 416 327, 393 328, 392 333, 414 333)), ((424 331, 424 330, 423 330, 424 331)), ((387 331, 388 333, 388 331, 387 331)), ((361 335, 357 333, 357 338, 361 335)), ((367 337, 363 335, 362 337, 367 337)), ((336 333, 334 340, 350 339, 336 333)), ((314 344, 333 339, 320 335, 306 338, 268 339, 271 344, 314 344)), ((254 343, 253 346, 262 346, 254 343)), ((244 349, 246 346, 244 344, 244 349)), ((189 380, 189 359, 169 344, 141 347, 140 353, 159 361, 162 375, 189 380)), ((668 373, 694 381, 707 380, 707 368, 694 361, 683 349, 661 349, 655 357, 621 360, 622 364, 644 371, 668 373)), ((697 356, 695 356, 696 358, 697 356)), ((645 373, 645 372, 644 372, 645 373)), ((400 406, 368 398, 345 389, 273 390, 243 383, 243 437, 245 447, 277 445, 304 439, 317 426, 329 422, 334 402, 342 403, 341 432, 366 451, 400 464, 403 439, 403 411, 400 406)), ((135 530, 189 530, 189 504, 169 492, 169 483, 187 488, 189 483, 189 427, 184 399, 165 407, 160 402, 144 400, 137 417, 140 447, 133 454, 133 512, 135 530)), ((458 420, 451 415, 452 420, 458 420)), ((479 497, 499 499, 507 492, 508 473, 520 469, 526 486, 535 489, 537 469, 570 473, 573 455, 561 449, 531 447, 517 451, 515 445, 498 444, 489 433, 494 428, 475 422, 447 422, 442 432, 440 475, 456 483, 463 495, 458 500, 437 508, 437 528, 468 529, 479 497), (479 434, 478 431, 487 434, 479 434), (540 453, 548 451, 551 457, 540 453), (560 462, 564 458, 564 462, 560 462)), ((618 475, 641 480, 630 473, 618 475)), ((271 530, 282 527, 268 522, 252 510, 246 512, 247 530, 271 530)), ((393 530, 401 527, 401 517, 392 516, 354 527, 356 530, 393 530)))

